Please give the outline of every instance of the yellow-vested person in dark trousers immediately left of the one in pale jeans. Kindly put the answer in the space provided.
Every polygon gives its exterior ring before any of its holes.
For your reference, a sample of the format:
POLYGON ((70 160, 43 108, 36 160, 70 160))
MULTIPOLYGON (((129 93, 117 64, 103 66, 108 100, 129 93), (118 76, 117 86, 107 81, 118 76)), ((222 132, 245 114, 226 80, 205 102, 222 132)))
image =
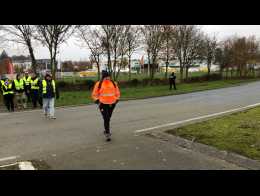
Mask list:
POLYGON ((31 98, 33 103, 33 108, 37 108, 37 103, 42 107, 42 99, 40 96, 40 85, 41 81, 36 75, 36 73, 32 74, 31 78, 31 98))

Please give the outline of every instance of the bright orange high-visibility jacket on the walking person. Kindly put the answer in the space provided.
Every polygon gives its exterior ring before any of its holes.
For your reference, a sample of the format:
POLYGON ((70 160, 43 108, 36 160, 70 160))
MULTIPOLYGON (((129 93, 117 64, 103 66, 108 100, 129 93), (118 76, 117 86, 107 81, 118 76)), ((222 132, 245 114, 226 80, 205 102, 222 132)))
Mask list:
POLYGON ((96 82, 92 98, 103 104, 113 104, 120 98, 120 91, 117 84, 113 84, 110 80, 103 80, 102 85, 99 88, 100 81, 96 82))

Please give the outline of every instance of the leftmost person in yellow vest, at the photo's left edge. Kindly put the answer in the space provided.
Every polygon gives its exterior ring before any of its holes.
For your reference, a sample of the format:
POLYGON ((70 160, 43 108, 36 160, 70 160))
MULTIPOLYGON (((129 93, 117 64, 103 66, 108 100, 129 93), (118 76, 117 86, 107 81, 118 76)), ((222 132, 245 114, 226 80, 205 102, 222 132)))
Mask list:
POLYGON ((14 112, 14 86, 12 81, 6 76, 1 80, 1 91, 7 110, 9 112, 14 112))

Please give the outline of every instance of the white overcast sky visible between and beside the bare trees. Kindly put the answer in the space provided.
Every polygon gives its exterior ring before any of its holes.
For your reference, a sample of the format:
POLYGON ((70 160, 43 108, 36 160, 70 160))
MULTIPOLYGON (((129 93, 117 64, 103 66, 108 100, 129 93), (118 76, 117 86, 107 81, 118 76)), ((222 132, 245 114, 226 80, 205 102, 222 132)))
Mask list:
MULTIPOLYGON (((202 30, 209 34, 216 34, 219 39, 223 39, 227 36, 234 34, 241 36, 256 35, 260 38, 260 25, 203 25, 202 30)), ((27 55, 27 51, 17 46, 9 46, 5 48, 8 55, 27 55)), ((144 52, 138 52, 134 57, 139 58, 144 52)), ((48 50, 44 47, 38 46, 35 48, 35 56, 39 58, 49 58, 48 50)), ((78 41, 75 38, 71 38, 67 43, 63 44, 60 48, 60 55, 58 59, 61 60, 88 60, 89 51, 86 48, 79 46, 78 41)))

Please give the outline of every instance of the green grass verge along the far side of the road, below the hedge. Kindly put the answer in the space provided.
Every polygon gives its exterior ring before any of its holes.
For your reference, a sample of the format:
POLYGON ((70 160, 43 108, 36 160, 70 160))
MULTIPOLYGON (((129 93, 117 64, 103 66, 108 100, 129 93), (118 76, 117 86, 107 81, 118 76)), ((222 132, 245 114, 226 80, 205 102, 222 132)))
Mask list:
MULTIPOLYGON (((239 85, 245 82, 252 82, 254 80, 220 80, 202 83, 184 83, 177 85, 178 90, 169 90, 168 85, 161 86, 145 86, 121 88, 121 100, 142 99, 149 97, 158 97, 166 95, 176 95, 183 93, 190 93, 195 91, 217 89, 223 87, 230 87, 239 85)), ((73 91, 61 92, 60 99, 57 100, 56 106, 81 105, 92 103, 90 91, 73 91)))

